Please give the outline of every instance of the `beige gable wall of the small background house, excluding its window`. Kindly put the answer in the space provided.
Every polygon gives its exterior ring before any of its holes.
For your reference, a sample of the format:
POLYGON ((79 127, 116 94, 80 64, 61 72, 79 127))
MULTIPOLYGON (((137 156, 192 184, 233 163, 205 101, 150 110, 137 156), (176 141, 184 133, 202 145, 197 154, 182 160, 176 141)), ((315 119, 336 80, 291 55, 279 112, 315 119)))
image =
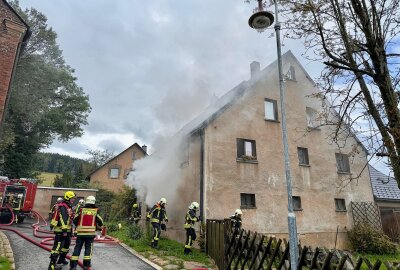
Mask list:
POLYGON ((99 184, 101 187, 113 192, 121 190, 125 184, 125 172, 132 168, 134 169, 135 160, 132 159, 133 154, 135 154, 136 160, 145 156, 142 150, 140 150, 136 145, 133 145, 92 173, 90 175, 90 183, 99 184), (111 168, 120 168, 117 179, 110 178, 109 171, 111 168))

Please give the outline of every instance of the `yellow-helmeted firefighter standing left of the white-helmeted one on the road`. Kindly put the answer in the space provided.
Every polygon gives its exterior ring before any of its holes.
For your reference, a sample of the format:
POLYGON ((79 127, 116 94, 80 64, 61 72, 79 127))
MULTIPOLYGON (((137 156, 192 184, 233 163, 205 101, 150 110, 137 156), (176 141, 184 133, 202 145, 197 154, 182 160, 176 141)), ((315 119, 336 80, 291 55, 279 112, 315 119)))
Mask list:
POLYGON ((57 209, 51 219, 50 225, 53 226, 55 237, 50 253, 49 270, 61 269, 63 264, 68 264, 66 257, 71 244, 71 225, 74 216, 71 204, 75 197, 73 191, 65 192, 63 201, 57 204, 57 209))

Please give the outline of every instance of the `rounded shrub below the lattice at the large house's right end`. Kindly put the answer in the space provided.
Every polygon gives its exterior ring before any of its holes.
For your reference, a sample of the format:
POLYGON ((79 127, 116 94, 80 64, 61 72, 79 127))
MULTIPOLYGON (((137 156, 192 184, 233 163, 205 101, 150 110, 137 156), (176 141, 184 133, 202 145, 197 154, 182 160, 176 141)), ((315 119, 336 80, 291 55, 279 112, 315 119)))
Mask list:
POLYGON ((382 231, 368 224, 354 226, 348 232, 354 251, 373 254, 394 254, 396 245, 382 231))

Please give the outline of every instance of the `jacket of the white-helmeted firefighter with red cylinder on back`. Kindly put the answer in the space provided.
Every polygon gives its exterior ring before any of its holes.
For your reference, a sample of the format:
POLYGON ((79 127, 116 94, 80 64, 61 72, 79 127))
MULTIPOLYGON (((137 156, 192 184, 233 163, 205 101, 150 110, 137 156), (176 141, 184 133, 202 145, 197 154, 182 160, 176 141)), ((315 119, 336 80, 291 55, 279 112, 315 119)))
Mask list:
POLYGON ((102 227, 103 223, 98 208, 93 204, 80 207, 78 214, 74 217, 76 235, 81 237, 94 237, 96 228, 102 227))

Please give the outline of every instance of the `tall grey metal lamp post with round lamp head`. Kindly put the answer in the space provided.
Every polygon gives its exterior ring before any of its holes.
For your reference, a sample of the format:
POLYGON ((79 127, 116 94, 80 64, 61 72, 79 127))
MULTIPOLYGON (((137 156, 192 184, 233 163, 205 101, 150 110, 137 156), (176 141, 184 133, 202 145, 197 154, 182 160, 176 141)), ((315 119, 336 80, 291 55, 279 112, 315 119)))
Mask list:
MULTIPOLYGON (((258 1, 258 12, 254 13, 249 19, 249 25, 251 28, 257 30, 263 30, 271 26, 274 22, 274 16, 268 11, 264 11, 262 7, 262 0, 258 1)), ((285 160, 285 175, 286 175, 286 188, 288 196, 288 228, 289 228, 289 248, 290 248, 290 265, 291 269, 297 269, 299 251, 297 246, 297 226, 296 226, 296 215, 293 212, 292 203, 292 180, 290 176, 290 162, 289 162, 289 147, 287 140, 287 129, 286 129, 286 110, 285 110, 285 91, 284 81, 282 73, 282 52, 281 52, 281 24, 278 19, 278 3, 277 0, 273 0, 275 6, 275 33, 276 33, 276 47, 278 53, 278 72, 279 72, 279 93, 280 93, 280 106, 281 106, 281 117, 282 117, 282 141, 284 150, 285 160)))

